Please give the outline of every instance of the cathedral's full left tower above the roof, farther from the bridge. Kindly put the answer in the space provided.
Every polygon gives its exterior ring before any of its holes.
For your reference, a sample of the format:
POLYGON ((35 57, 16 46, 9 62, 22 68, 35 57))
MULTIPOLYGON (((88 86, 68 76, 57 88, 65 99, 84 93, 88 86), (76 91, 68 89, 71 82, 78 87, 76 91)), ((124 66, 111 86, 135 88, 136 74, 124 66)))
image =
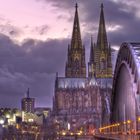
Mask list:
POLYGON ((75 17, 71 44, 68 45, 68 58, 65 68, 67 78, 86 77, 85 48, 82 45, 81 32, 78 17, 78 5, 75 6, 75 17))

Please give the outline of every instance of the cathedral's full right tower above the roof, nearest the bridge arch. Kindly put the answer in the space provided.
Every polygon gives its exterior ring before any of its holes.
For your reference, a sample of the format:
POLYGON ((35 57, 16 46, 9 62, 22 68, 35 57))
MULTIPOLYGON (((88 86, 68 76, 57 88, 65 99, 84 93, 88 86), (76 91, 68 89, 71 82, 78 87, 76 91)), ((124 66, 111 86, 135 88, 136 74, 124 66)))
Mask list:
MULTIPOLYGON (((96 78, 112 78, 111 48, 107 41, 103 8, 103 4, 101 4, 97 44, 93 56, 95 69, 91 72, 92 75, 95 74, 96 78)), ((91 74, 89 73, 89 75, 91 74)))

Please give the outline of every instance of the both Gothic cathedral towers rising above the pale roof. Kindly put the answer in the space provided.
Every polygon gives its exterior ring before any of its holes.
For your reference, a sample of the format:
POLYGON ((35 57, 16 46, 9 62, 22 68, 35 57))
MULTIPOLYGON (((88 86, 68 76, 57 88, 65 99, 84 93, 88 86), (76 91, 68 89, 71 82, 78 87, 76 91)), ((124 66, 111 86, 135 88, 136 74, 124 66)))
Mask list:
MULTIPOLYGON (((65 76, 67 78, 86 77, 85 48, 82 46, 77 4, 75 6, 71 44, 68 46, 65 76)), ((93 44, 91 38, 88 76, 96 76, 97 78, 112 78, 111 49, 107 41, 103 4, 101 4, 97 43, 93 44)))

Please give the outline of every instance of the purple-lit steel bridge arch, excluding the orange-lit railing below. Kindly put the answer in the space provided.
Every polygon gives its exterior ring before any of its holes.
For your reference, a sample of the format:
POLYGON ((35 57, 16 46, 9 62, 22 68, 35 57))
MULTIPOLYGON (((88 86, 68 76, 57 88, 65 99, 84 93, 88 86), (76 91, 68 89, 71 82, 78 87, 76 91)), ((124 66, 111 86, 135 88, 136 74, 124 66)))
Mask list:
POLYGON ((140 115, 139 100, 140 43, 123 43, 114 71, 111 122, 135 121, 140 115))

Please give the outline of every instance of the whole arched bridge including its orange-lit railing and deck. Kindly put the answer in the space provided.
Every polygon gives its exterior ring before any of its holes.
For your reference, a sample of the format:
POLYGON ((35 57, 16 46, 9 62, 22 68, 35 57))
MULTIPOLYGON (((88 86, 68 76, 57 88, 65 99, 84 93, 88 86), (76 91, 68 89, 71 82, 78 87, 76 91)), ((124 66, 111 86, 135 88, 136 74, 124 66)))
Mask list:
POLYGON ((140 139, 140 42, 123 43, 118 52, 112 89, 110 124, 100 134, 140 139))

